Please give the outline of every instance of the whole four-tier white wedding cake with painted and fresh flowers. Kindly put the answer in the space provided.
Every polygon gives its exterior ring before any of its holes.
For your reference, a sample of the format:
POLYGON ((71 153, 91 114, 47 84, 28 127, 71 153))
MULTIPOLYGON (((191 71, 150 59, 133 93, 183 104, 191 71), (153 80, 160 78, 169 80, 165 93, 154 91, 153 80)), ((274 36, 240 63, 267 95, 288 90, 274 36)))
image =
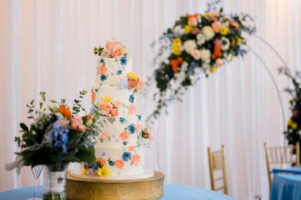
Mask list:
MULTIPOLYGON (((144 147, 153 142, 150 127, 136 115, 136 95, 143 80, 132 72, 126 45, 109 41, 94 48, 97 76, 91 91, 93 108, 101 112, 96 136, 96 163, 83 164, 81 175, 96 179, 134 179, 154 175, 144 169, 144 147)), ((74 173, 73 173, 74 175, 74 173)), ((75 173, 75 176, 78 173, 75 173)))

